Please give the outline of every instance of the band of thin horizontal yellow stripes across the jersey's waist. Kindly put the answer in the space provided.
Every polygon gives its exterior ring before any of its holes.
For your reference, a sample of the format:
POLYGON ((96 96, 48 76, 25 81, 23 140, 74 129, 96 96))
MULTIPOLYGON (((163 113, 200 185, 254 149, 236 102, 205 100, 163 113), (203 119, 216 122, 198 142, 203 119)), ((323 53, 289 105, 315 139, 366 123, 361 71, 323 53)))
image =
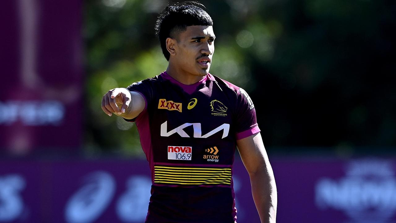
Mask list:
POLYGON ((231 169, 154 166, 154 183, 173 185, 231 185, 231 169))

